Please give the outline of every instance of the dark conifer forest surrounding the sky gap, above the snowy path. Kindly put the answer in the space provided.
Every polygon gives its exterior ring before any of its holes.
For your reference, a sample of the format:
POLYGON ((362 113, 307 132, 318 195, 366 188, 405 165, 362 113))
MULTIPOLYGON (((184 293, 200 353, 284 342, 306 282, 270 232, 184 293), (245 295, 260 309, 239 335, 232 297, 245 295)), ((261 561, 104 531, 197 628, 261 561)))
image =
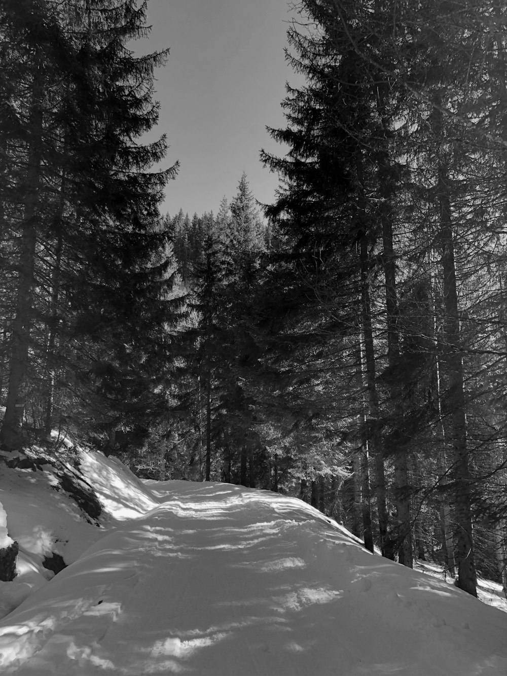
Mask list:
POLYGON ((294 9, 276 197, 192 215, 147 2, 0 0, 1 447, 300 498, 507 594, 507 6, 294 9))

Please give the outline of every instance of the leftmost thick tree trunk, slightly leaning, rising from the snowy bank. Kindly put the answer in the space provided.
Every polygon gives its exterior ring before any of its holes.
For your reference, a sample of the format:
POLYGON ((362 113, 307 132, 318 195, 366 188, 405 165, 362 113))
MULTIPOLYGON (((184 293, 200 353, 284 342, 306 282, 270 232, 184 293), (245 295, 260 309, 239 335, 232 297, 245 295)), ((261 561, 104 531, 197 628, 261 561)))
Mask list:
POLYGON ((0 431, 0 443, 7 450, 22 445, 21 427, 26 404, 28 349, 32 329, 33 286, 35 277, 35 250, 37 245, 37 208, 41 187, 41 139, 43 135, 42 99, 44 89, 43 69, 39 66, 32 82, 30 111, 31 137, 28 147, 26 193, 21 224, 18 291, 16 314, 11 331, 11 358, 5 415, 0 431))

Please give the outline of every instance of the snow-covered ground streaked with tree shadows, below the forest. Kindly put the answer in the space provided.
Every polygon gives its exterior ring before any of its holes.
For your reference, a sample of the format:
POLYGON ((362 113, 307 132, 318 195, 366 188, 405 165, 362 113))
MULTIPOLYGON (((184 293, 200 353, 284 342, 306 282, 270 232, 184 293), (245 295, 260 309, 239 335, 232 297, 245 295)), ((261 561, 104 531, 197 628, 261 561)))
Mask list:
POLYGON ((506 613, 366 552, 299 500, 80 463, 99 527, 47 487, 47 468, 0 479, 34 571, 55 546, 72 560, 0 622, 1 673, 507 673, 506 613))

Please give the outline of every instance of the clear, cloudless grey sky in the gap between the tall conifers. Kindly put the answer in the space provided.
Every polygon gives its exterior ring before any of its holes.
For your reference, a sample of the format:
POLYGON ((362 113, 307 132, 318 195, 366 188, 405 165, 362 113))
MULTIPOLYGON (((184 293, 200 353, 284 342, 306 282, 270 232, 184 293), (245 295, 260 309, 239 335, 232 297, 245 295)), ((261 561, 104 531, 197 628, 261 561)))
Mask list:
POLYGON ((290 18, 287 0, 148 0, 152 30, 136 50, 170 49, 155 75, 156 132, 168 137, 165 166, 180 161, 162 214, 216 214, 243 171, 256 199, 273 200, 278 178, 259 152, 286 151, 266 125, 285 126, 285 82, 295 82, 284 53, 290 18))

